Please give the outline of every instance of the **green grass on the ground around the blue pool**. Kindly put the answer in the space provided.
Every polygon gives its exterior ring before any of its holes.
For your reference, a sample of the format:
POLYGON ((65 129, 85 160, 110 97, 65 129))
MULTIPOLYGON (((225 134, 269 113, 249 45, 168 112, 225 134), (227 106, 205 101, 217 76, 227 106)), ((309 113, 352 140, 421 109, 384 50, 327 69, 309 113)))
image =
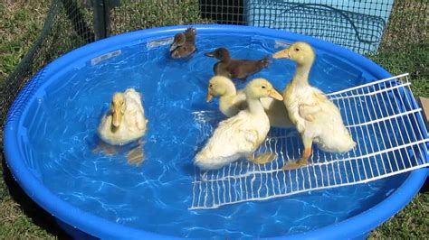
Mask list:
MULTIPOLYGON (((164 9, 166 7, 171 8, 172 5, 167 0, 150 0, 148 8, 138 4, 121 6, 112 14, 112 18, 121 18, 122 23, 116 21, 112 25, 112 33, 153 25, 207 22, 197 19, 196 0, 184 1, 188 5, 167 11, 173 14, 155 11, 160 6, 164 9), (147 18, 136 18, 132 13, 155 14, 147 18)), ((415 12, 418 9, 423 9, 418 3, 424 3, 424 1, 397 1, 405 3, 406 7, 400 7, 394 11, 380 52, 376 56, 370 56, 370 58, 393 74, 410 72, 415 96, 429 97, 427 67, 429 66, 429 58, 427 57, 429 56, 429 41, 427 41, 427 32, 422 31, 423 27, 420 27, 424 23, 415 23, 415 19, 421 18, 423 19, 421 21, 424 21, 422 13, 415 12), (416 16, 416 14, 421 14, 421 16, 416 16), (422 39, 426 41, 422 41, 422 39)), ((32 46, 37 34, 42 29, 43 20, 50 4, 49 0, 14 2, 14 4, 5 4, 5 1, 0 2, 0 81, 3 81, 14 70, 25 52, 32 46)), ((89 16, 86 15, 86 17, 89 16)), ((65 32, 70 26, 62 25, 62 28, 64 32, 59 33, 59 36, 52 36, 53 40, 58 40, 62 34, 66 34, 65 32)), ((81 44, 75 36, 72 37, 68 40, 70 45, 63 45, 63 49, 70 48, 73 44, 81 44)), ((52 58, 60 54, 63 49, 58 49, 58 52, 52 53, 52 58)), ((3 162, 0 166, 0 175, 3 176, 0 178, 0 239, 64 237, 64 233, 55 225, 54 218, 38 207, 19 188, 5 167, 2 158, 3 154, 0 154, 0 160, 3 162)), ((377 227, 369 238, 427 238, 428 202, 429 193, 419 193, 405 209, 382 226, 377 227)))

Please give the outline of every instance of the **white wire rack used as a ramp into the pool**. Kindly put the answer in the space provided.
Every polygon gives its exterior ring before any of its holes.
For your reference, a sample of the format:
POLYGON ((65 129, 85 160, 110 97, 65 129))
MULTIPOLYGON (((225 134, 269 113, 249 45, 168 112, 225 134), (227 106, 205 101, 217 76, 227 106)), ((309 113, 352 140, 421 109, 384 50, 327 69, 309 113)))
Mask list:
MULTIPOLYGON (((218 171, 195 169, 190 209, 348 186, 429 166, 428 133, 410 85, 408 74, 402 74, 328 94, 358 143, 355 149, 336 154, 314 147, 311 164, 283 171, 283 163, 298 159, 303 146, 296 130, 274 128, 257 153, 276 152, 277 160, 263 165, 241 160, 218 171)), ((215 127, 206 121, 201 125, 205 135, 215 127)))

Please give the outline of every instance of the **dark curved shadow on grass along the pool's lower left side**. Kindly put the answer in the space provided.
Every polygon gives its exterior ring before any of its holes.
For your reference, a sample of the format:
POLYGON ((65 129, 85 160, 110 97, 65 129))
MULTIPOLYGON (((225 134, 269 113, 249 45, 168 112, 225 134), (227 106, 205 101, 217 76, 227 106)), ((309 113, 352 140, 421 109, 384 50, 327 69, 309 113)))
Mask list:
POLYGON ((46 212, 43 208, 37 205, 32 198, 25 194, 24 190, 21 189, 18 183, 14 180, 11 171, 9 171, 9 168, 6 166, 5 156, 3 153, 1 153, 0 158, 3 167, 5 185, 9 190, 10 196, 14 199, 14 202, 19 205, 19 208, 23 210, 25 216, 30 217, 33 224, 42 227, 46 232, 59 239, 72 239, 70 235, 67 235, 62 228, 60 228, 55 217, 52 217, 51 214, 46 212))

